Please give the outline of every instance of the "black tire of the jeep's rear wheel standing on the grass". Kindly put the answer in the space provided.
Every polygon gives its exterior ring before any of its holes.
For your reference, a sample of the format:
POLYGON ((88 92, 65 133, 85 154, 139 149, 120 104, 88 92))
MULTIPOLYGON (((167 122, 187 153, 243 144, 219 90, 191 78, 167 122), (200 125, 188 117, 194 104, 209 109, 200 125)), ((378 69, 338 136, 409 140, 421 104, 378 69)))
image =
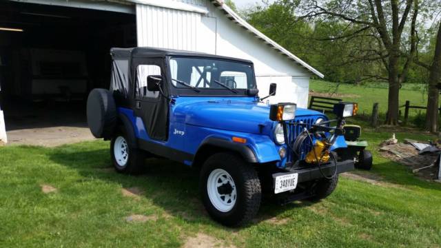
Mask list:
POLYGON ((127 134, 125 132, 118 132, 112 138, 110 142, 110 156, 112 157, 112 163, 116 172, 125 174, 140 174, 143 172, 145 162, 145 152, 137 149, 129 142, 127 134), (127 149, 127 159, 121 160, 117 158, 115 145, 121 145, 121 138, 125 141, 127 149), (125 162, 125 163, 124 163, 125 162))

